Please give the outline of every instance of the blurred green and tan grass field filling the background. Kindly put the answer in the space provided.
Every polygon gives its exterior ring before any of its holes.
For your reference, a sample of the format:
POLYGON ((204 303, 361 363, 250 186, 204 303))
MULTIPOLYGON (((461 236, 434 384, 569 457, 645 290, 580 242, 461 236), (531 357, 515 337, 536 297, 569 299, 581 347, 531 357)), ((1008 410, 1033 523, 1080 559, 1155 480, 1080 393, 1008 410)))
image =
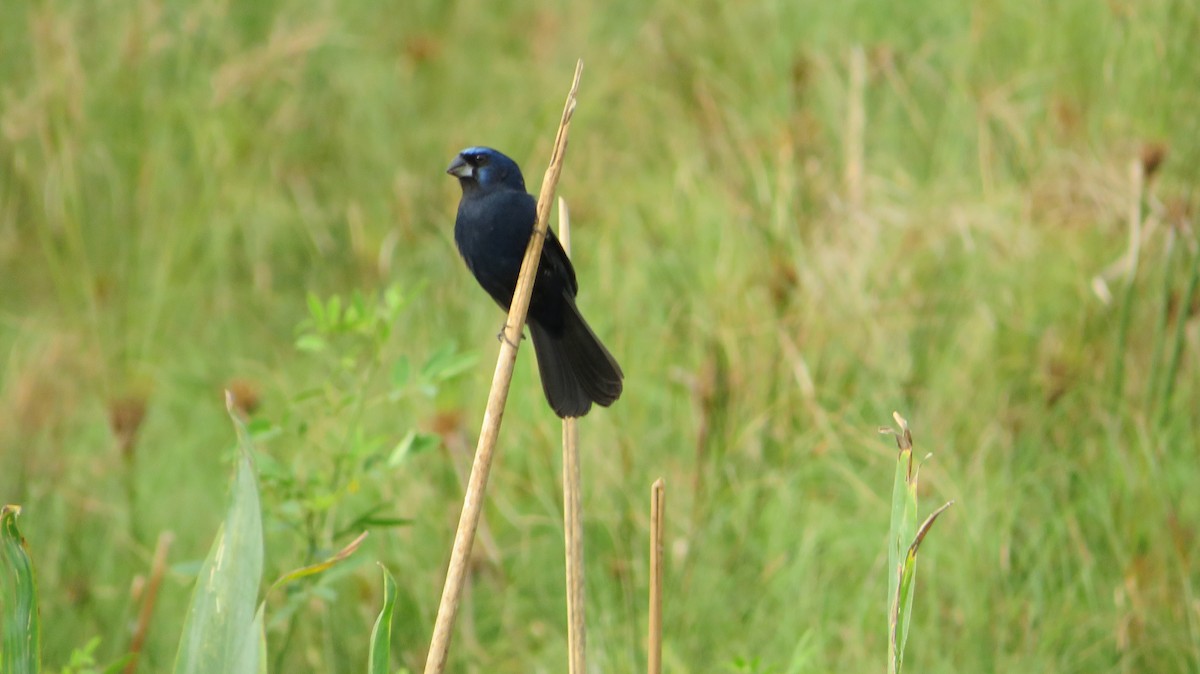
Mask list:
MULTIPOLYGON (((882 670, 893 410, 956 500, 911 669, 1200 669, 1198 46, 1194 0, 0 4, 0 501, 48 670, 126 651, 168 530, 170 667, 229 387, 266 582, 372 531, 271 597, 271 670, 361 670, 374 561, 420 670, 503 320, 442 171, 536 189, 577 58, 559 193, 626 373, 582 423, 596 672, 644 667, 659 476, 668 672, 882 670)), ((523 349, 454 672, 565 669, 558 439, 523 349)))

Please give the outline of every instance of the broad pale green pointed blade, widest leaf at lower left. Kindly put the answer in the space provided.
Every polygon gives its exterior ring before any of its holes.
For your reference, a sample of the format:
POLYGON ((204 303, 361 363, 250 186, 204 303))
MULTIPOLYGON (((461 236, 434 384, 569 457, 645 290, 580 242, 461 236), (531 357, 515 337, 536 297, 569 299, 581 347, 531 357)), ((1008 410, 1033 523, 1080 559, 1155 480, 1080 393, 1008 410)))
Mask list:
POLYGON ((239 451, 229 510, 200 567, 175 674, 259 672, 265 657, 253 657, 263 633, 260 624, 254 628, 263 574, 262 510, 250 435, 236 416, 230 417, 238 429, 239 451))

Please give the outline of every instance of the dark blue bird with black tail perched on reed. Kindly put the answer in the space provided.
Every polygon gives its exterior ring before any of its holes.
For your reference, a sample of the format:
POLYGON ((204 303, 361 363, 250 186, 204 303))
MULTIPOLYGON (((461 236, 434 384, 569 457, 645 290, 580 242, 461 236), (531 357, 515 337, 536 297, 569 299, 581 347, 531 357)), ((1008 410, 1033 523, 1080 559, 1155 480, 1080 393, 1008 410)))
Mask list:
MULTIPOLYGON (((458 253, 484 290, 508 311, 538 203, 526 192, 516 162, 491 148, 458 152, 446 173, 462 187, 454 225, 458 253)), ((586 415, 592 403, 611 405, 620 397, 624 378, 575 306, 578 291, 571 260, 550 230, 529 300, 528 324, 542 391, 564 419, 586 415)))

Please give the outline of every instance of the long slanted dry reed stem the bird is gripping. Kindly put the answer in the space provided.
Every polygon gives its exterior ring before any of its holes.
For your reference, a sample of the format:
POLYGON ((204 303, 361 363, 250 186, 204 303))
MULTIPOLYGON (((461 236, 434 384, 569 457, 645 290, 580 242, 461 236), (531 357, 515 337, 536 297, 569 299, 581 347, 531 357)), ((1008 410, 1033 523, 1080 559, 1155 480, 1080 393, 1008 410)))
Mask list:
POLYGON ((512 369, 516 366, 517 347, 524 329, 526 314, 529 312, 529 295, 533 291, 534 273, 541 258, 542 242, 546 240, 546 223, 550 218, 550 204, 558 187, 558 177, 563 173, 563 158, 566 152, 566 133, 575 114, 575 97, 580 90, 580 77, 583 74, 583 61, 575 65, 575 79, 566 95, 563 119, 554 137, 554 149, 550 155, 550 167, 541 182, 538 195, 538 221, 534 224, 524 261, 521 264, 521 276, 517 278, 508 321, 504 325, 504 339, 500 341, 500 355, 496 361, 496 373, 492 375, 492 390, 487 396, 487 409, 484 411, 484 423, 479 432, 479 445, 475 447, 475 461, 467 480, 467 493, 463 495, 462 514, 458 517, 458 529, 455 531, 454 548, 450 552, 450 566, 446 568, 446 580, 442 589, 442 602, 438 604, 438 616, 433 625, 433 637, 430 640, 430 652, 425 658, 425 674, 442 674, 445 670, 450 652, 450 634, 458 614, 458 601, 462 597, 463 583, 470 565, 470 548, 475 542, 475 530, 484 511, 484 494, 487 491, 487 476, 492 470, 492 457, 496 451, 496 438, 500 432, 504 417, 504 404, 509 398, 509 384, 512 381, 512 369))

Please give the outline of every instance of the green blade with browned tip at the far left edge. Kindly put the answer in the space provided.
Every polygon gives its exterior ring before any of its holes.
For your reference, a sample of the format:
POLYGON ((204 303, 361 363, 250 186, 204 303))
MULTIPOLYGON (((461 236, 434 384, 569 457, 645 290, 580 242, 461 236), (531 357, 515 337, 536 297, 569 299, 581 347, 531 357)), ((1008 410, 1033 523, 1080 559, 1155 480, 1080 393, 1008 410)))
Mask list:
POLYGON ((4 672, 35 674, 42 667, 37 618, 37 579, 25 541, 17 529, 20 506, 0 508, 0 608, 4 608, 4 672))

